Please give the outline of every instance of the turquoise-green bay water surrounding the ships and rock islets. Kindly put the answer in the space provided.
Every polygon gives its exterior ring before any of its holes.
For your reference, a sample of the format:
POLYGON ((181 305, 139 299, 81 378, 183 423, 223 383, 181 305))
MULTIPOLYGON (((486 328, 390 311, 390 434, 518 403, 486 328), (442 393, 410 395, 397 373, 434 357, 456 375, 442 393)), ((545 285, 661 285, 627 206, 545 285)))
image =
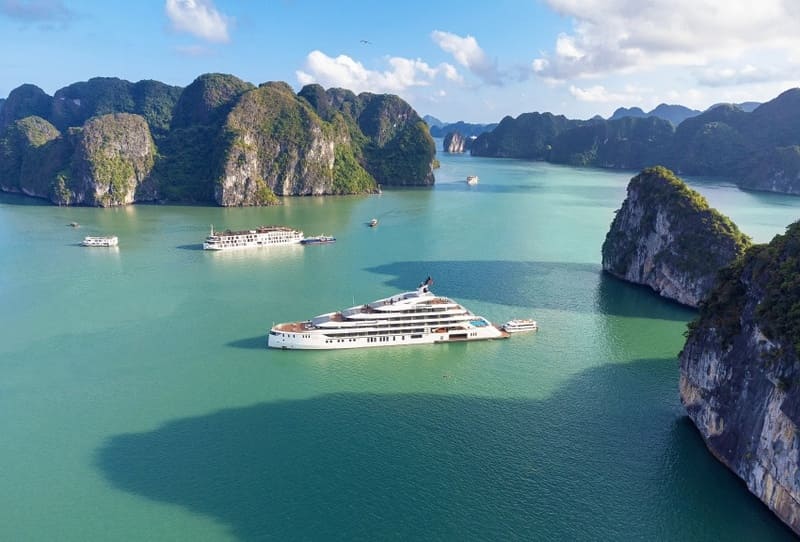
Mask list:
MULTIPOLYGON (((684 416, 692 311, 600 273, 631 174, 440 159, 433 189, 269 209, 0 196, 0 539, 791 539, 684 416), (337 242, 200 250, 211 224, 273 223, 337 242), (106 233, 118 250, 77 245, 106 233), (541 329, 264 348, 428 275, 541 329)), ((800 214, 692 184, 756 241, 800 214)))

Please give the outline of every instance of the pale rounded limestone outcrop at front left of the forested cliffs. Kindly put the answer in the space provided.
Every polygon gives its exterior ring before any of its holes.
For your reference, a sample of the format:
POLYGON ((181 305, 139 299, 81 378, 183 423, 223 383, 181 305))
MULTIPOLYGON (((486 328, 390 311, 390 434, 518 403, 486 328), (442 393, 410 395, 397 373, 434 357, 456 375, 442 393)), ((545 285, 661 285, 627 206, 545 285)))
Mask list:
POLYGON ((74 135, 75 161, 57 203, 110 207, 133 203, 153 168, 155 145, 144 117, 94 117, 74 135), (66 196, 66 197, 64 197, 66 196))

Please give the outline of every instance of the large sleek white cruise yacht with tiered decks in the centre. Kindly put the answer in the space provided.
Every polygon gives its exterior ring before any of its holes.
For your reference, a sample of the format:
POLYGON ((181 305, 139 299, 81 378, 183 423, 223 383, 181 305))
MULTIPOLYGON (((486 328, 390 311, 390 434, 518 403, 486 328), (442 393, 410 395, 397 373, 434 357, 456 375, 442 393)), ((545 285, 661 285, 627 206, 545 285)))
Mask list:
POLYGON ((486 318, 430 291, 430 277, 412 292, 273 326, 267 346, 332 350, 507 338, 486 318))

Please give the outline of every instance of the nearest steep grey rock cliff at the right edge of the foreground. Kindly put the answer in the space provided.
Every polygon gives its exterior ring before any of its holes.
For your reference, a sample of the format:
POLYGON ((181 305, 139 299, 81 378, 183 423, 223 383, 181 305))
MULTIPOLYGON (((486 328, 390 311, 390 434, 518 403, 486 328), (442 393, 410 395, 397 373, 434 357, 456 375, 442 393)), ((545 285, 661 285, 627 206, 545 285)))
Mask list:
POLYGON ((708 449, 800 535, 800 223, 720 273, 680 354, 708 449))

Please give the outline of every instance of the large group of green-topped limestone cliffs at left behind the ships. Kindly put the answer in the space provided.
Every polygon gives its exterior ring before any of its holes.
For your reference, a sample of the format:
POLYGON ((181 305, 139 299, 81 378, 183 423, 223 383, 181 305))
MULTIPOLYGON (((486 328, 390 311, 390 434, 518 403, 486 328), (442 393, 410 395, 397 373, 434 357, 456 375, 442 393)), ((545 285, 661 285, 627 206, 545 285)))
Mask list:
POLYGON ((0 190, 59 205, 267 205, 434 182, 435 146, 388 94, 204 74, 186 88, 98 77, 0 108, 0 190))

